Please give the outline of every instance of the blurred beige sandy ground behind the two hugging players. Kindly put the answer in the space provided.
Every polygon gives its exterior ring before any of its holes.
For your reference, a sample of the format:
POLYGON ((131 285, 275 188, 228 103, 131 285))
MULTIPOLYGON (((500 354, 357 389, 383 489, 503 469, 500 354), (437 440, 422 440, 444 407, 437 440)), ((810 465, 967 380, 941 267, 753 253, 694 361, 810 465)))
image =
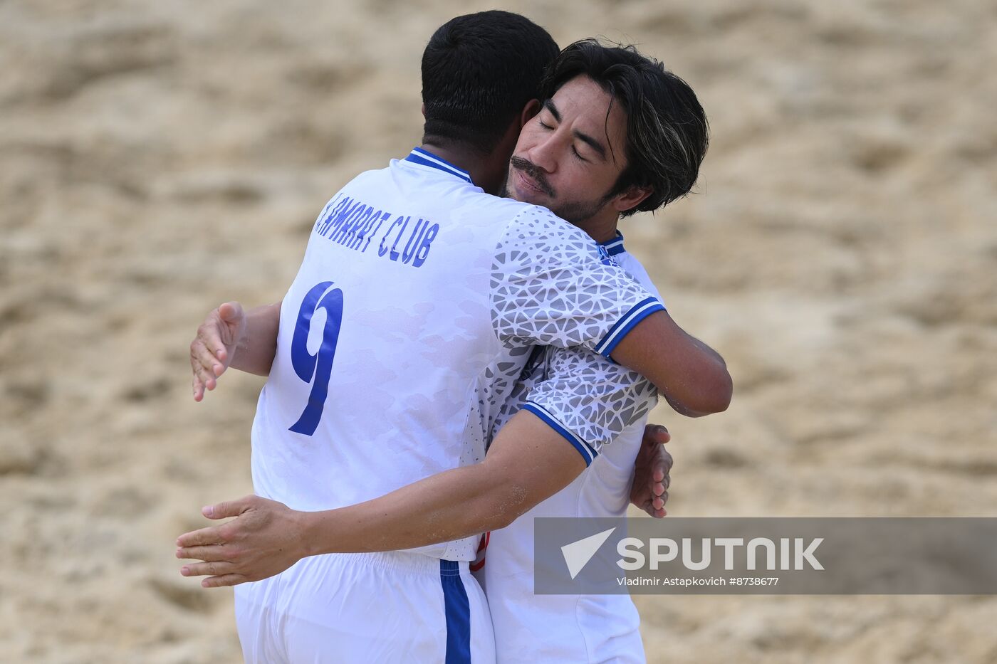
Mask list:
MULTIPOLYGON (((186 347, 279 299, 355 172, 420 136, 432 31, 477 0, 0 2, 0 660, 235 662, 177 574, 250 491, 261 381, 186 347)), ((997 5, 511 2, 639 43, 713 142, 625 222, 730 411, 659 409, 674 515, 997 515, 997 5)), ((997 661, 992 597, 642 597, 653 662, 997 661)))

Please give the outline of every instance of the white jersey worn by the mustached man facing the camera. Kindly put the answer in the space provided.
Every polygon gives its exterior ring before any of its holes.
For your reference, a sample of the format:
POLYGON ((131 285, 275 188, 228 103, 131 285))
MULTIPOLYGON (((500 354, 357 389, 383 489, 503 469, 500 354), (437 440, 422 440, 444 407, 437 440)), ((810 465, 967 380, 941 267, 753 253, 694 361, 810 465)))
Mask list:
MULTIPOLYGON (((622 235, 606 246, 656 292, 644 267, 624 251, 622 235)), ((583 457, 597 457, 563 490, 490 533, 487 555, 473 565, 484 577, 499 663, 644 661, 640 616, 629 595, 533 594, 533 519, 625 515, 634 461, 656 404, 657 391, 646 379, 583 349, 543 349, 524 370, 496 431, 521 409, 548 422, 567 417, 551 426, 584 431, 596 446, 575 448, 583 457), (583 406, 568 413, 556 408, 563 400, 583 406)))

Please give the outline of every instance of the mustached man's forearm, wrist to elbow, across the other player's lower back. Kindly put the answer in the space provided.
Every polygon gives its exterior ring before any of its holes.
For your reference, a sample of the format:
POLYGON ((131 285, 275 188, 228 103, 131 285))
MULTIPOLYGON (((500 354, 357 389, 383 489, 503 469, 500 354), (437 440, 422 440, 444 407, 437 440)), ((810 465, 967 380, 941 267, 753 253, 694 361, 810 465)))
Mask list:
POLYGON ((306 555, 414 548, 504 527, 529 505, 514 482, 488 471, 455 469, 381 498, 307 512, 306 555))

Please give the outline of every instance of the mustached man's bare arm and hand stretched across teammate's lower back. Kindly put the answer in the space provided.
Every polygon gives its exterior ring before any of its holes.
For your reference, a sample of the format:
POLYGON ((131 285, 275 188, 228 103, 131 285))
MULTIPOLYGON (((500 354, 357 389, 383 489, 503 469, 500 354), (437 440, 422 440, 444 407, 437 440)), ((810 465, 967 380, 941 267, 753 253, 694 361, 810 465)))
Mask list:
POLYGON ((185 576, 208 587, 277 574, 307 555, 425 546, 504 527, 566 487, 585 462, 539 418, 520 411, 481 464, 440 473, 359 504, 303 512, 250 496, 205 508, 234 520, 188 532, 176 556, 185 576))

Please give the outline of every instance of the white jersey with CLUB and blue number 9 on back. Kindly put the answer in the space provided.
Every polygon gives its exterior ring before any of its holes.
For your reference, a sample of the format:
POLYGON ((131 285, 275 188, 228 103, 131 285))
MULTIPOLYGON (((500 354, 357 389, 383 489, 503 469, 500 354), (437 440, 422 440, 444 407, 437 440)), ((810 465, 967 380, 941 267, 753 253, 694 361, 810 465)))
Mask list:
MULTIPOLYGON (((533 344, 608 356, 661 309, 584 232, 426 151, 361 173, 319 215, 282 302, 255 492, 329 509, 481 461, 533 344)), ((477 544, 419 550, 472 560, 477 544)))

